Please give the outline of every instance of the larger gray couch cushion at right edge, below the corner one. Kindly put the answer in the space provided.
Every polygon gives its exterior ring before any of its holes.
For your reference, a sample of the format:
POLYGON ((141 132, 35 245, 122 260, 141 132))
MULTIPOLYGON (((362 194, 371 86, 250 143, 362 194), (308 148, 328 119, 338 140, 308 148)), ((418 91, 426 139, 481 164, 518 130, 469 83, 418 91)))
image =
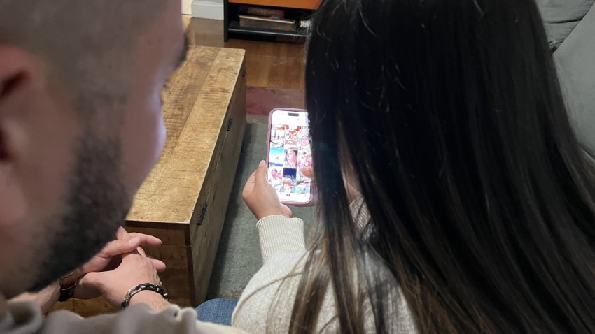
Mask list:
POLYGON ((595 157, 595 6, 554 52, 577 138, 595 157))

